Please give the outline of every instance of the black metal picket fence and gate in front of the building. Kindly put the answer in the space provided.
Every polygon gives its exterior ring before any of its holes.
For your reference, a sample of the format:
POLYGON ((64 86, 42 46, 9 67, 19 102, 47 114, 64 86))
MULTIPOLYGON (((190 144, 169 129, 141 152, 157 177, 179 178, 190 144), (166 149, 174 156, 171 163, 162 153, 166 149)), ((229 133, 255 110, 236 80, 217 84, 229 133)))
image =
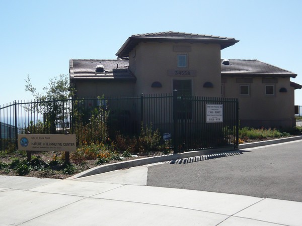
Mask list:
POLYGON ((18 148, 18 134, 77 135, 98 142, 118 133, 158 129, 177 151, 238 147, 238 99, 171 94, 14 102, 0 107, 0 149, 18 148), (97 124, 95 122, 98 122, 97 124), (101 122, 101 123, 100 123, 101 122), (107 134, 105 134, 107 133, 107 134))

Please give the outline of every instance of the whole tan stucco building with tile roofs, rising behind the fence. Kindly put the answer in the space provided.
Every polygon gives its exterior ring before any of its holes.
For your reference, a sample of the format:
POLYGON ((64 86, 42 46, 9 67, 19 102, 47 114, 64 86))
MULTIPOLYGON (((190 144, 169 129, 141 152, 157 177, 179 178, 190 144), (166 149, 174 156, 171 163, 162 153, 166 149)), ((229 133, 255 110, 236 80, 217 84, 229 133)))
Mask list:
POLYGON ((117 60, 70 59, 76 97, 171 93, 239 98, 242 126, 294 126, 296 74, 258 60, 224 60, 234 38, 179 32, 133 35, 117 60))

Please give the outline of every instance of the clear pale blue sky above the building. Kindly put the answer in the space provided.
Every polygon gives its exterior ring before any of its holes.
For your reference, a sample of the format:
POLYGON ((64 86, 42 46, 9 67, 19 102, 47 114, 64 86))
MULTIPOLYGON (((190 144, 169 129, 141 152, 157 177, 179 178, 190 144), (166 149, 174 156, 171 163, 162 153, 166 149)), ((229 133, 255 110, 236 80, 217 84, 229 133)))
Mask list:
MULTIPOLYGON (((116 59, 133 34, 188 32, 233 37, 221 58, 258 59, 298 74, 302 84, 302 1, 0 0, 0 105, 32 99, 68 74, 69 59, 116 59)), ((302 90, 295 91, 302 105, 302 90)))

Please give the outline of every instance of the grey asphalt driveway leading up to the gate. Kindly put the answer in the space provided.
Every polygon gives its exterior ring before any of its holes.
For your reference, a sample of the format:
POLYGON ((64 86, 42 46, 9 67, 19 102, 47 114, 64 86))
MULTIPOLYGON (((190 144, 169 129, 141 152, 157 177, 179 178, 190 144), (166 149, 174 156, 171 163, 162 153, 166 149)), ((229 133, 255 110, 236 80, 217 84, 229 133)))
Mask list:
POLYGON ((148 167, 148 186, 302 202, 302 141, 148 167))

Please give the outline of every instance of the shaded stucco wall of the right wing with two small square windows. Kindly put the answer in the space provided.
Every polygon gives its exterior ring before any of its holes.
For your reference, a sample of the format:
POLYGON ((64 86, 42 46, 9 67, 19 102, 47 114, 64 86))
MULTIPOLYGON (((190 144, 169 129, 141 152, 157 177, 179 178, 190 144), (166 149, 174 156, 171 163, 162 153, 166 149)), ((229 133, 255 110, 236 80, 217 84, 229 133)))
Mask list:
MULTIPOLYGON (((239 98, 241 126, 292 127, 294 121, 294 89, 289 78, 278 78, 277 83, 263 82, 261 77, 252 78, 252 83, 238 82, 238 77, 228 77, 224 85, 225 97, 239 98), (250 95, 240 95, 240 85, 250 85, 250 95), (275 95, 265 94, 265 85, 275 85, 275 95), (279 92, 280 88, 287 92, 279 92)), ((225 78, 223 78, 225 80, 225 78)))

